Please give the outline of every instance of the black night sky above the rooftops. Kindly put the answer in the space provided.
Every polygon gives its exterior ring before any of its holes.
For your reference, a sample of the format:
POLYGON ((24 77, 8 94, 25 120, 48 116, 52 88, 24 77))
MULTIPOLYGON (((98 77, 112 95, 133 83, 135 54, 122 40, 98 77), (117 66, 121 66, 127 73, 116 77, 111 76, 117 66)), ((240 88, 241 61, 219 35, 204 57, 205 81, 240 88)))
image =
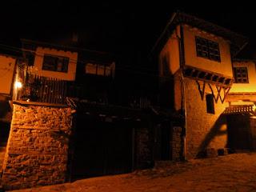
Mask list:
POLYGON ((254 45, 254 6, 206 4, 209 3, 9 0, 0 10, 0 43, 16 46, 19 38, 65 42, 73 32, 78 32, 86 49, 143 57, 149 53, 172 12, 182 10, 246 35, 254 45))

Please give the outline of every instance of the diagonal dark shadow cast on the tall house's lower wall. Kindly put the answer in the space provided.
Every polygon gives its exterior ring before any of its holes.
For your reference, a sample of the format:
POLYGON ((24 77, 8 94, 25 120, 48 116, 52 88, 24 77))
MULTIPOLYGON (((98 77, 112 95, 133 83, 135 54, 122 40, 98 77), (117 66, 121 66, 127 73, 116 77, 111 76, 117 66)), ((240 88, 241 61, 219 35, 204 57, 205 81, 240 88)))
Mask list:
MULTIPOLYGON (((217 136, 222 136, 227 134, 227 127, 226 127, 226 116, 221 114, 214 126, 210 129, 210 131, 206 134, 206 137, 201 142, 200 146, 198 147, 198 154, 197 158, 204 158, 206 157, 206 150, 208 146, 210 146, 210 142, 217 136)), ((224 147, 224 146, 223 146, 224 147)), ((226 147, 226 146, 225 146, 226 147)))

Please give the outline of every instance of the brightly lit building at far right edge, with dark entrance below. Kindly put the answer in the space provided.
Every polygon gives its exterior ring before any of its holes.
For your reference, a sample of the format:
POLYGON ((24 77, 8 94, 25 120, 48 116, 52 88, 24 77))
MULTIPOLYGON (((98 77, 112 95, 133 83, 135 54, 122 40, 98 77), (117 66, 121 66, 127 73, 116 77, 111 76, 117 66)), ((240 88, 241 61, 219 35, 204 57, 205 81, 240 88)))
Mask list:
POLYGON ((255 150, 255 61, 234 59, 234 84, 226 98, 224 112, 229 130, 229 147, 235 150, 255 150))

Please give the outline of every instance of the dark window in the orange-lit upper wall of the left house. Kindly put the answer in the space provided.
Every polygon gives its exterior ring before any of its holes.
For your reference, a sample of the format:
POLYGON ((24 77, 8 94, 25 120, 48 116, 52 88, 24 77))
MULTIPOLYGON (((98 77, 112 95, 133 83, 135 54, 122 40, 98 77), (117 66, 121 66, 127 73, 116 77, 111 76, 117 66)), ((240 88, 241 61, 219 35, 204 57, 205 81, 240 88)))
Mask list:
POLYGON ((69 62, 69 58, 45 54, 43 56, 42 70, 67 72, 69 62))

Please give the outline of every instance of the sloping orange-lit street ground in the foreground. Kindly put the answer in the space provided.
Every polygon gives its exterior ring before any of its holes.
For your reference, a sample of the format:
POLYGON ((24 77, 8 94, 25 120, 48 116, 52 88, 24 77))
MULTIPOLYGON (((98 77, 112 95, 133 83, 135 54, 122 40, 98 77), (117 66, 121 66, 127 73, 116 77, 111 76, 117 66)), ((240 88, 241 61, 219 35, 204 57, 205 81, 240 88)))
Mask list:
POLYGON ((71 183, 16 192, 153 192, 236 191, 256 192, 256 153, 228 154, 188 162, 158 162, 153 169, 137 170, 71 183))

